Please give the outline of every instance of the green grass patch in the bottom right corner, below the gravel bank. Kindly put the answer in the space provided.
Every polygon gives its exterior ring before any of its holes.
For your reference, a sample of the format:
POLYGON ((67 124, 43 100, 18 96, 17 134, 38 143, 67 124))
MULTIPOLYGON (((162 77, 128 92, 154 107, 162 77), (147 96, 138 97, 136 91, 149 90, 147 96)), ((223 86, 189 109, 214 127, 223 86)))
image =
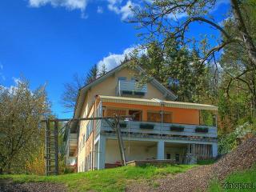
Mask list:
POLYGON ((218 181, 213 181, 210 185, 209 192, 256 191, 256 165, 250 170, 244 170, 230 174, 230 176, 225 179, 224 183, 236 183, 237 186, 238 183, 247 183, 246 185, 248 185, 248 183, 249 185, 250 183, 253 183, 254 188, 249 189, 247 187, 247 189, 224 189, 224 186, 221 185, 218 181))

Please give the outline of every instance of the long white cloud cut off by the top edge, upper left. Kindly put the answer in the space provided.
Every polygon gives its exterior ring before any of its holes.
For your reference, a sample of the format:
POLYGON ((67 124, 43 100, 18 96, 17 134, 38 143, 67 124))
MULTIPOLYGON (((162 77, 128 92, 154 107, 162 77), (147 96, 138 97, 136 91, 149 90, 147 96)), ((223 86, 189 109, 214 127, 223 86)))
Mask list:
POLYGON ((69 10, 85 10, 88 0, 29 0, 30 6, 40 7, 50 4, 51 6, 63 6, 69 10))

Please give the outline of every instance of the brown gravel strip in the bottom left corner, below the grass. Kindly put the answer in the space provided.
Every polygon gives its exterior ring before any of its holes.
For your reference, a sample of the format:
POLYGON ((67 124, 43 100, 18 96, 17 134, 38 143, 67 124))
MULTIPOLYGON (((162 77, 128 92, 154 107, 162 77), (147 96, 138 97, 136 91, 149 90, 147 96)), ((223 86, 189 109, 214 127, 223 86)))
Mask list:
POLYGON ((14 183, 11 180, 0 180, 1 192, 66 192, 63 184, 50 182, 14 183))

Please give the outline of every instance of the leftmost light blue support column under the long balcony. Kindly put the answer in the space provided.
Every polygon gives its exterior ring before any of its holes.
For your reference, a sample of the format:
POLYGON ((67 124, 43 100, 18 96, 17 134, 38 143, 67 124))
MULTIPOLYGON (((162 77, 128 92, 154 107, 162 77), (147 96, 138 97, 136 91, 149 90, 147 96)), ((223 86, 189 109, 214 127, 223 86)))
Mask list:
POLYGON ((106 137, 100 135, 98 139, 98 170, 105 169, 106 137))

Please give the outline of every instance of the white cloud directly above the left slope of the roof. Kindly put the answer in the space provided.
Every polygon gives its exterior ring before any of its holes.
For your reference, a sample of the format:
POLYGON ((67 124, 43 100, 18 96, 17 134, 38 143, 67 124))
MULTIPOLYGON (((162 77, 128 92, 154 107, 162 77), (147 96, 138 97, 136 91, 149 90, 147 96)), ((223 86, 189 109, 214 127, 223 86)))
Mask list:
POLYGON ((114 67, 119 66, 126 55, 129 55, 134 49, 134 47, 127 48, 122 54, 110 53, 109 56, 102 58, 102 60, 98 62, 98 68, 101 69, 102 65, 105 64, 107 71, 112 70, 114 67))

